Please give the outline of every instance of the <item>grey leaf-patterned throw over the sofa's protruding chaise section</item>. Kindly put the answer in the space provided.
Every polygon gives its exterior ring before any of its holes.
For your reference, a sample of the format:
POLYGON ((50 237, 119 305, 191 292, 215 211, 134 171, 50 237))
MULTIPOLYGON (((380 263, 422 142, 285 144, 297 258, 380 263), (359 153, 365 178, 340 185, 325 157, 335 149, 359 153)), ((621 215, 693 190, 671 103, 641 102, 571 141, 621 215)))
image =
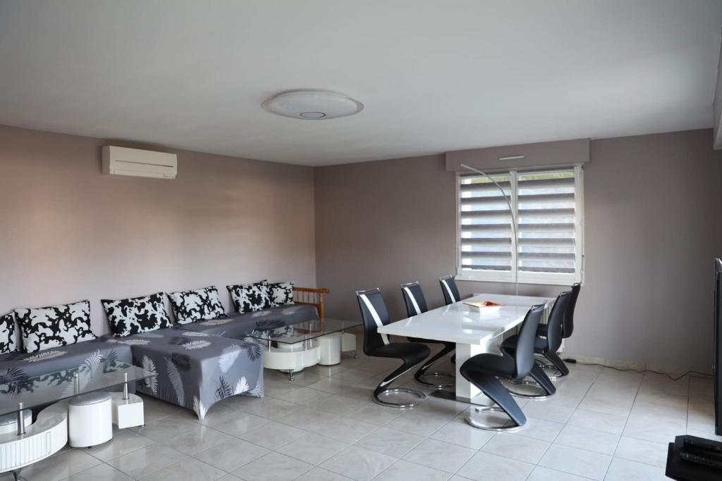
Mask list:
POLYGON ((139 392, 192 409, 199 419, 226 397, 263 397, 263 350, 257 343, 176 328, 106 342, 132 346, 133 363, 158 374, 139 381, 139 392))

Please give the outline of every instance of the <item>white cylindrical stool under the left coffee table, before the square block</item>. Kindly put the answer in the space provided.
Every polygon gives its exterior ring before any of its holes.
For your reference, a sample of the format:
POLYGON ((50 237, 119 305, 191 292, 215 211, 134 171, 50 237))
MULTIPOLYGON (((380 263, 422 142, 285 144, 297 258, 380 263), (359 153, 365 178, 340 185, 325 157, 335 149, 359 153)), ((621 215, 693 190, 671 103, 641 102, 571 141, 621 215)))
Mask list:
POLYGON ((87 448, 113 438, 113 402, 108 392, 91 392, 68 402, 70 446, 87 448))

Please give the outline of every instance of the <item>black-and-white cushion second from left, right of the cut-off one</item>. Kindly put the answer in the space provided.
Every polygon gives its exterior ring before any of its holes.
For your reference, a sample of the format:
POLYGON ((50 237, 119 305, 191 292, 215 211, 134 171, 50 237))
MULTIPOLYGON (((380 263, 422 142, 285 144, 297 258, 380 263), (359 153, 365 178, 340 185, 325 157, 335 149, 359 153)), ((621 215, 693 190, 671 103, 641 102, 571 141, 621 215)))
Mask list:
POLYGON ((90 330, 90 301, 38 309, 15 309, 26 353, 95 339, 90 330))

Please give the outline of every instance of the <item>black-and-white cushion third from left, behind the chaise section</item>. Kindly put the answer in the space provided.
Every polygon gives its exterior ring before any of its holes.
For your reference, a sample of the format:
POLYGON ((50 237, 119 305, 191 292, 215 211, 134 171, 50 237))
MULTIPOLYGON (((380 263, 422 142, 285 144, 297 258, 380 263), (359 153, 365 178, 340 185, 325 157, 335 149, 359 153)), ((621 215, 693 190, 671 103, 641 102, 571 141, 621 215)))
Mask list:
POLYGON ((119 301, 103 299, 100 302, 108 316, 110 330, 118 337, 172 325, 168 312, 165 312, 162 293, 119 301))

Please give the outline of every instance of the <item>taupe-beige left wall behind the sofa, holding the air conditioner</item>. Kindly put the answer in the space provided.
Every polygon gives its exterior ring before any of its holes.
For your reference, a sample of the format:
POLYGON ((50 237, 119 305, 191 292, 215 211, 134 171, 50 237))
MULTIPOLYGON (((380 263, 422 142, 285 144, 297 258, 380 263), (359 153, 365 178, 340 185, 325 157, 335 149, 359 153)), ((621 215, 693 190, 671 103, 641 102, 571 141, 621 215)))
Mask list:
POLYGON ((177 151, 176 180, 101 175, 107 143, 0 126, 0 314, 90 299, 108 332, 102 298, 315 285, 313 169, 177 151))

